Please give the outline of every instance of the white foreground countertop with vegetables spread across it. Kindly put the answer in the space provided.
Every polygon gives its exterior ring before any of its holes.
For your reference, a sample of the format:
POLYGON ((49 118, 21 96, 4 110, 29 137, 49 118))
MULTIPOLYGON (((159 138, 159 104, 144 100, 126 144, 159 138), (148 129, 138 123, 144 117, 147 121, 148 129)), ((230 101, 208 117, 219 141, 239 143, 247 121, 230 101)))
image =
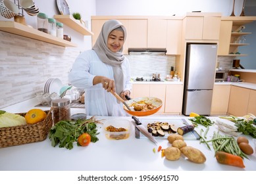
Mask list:
MULTIPOLYGON (((3 110, 9 110, 9 112, 24 112, 34 107, 35 102, 24 102, 16 104, 16 108, 5 108, 3 110), (24 106, 26 104, 26 106, 24 106), (20 107, 23 106, 22 111, 20 107)), ((45 109, 43 109, 45 110, 45 109)), ((84 112, 84 109, 72 108, 72 114, 84 112)), ((185 118, 184 116, 148 116, 144 118, 185 118)), ((96 117, 97 120, 109 120, 113 118, 124 118, 130 120, 133 124, 131 117, 96 117)), ((215 120, 216 117, 211 117, 215 120)), ((205 127, 197 127, 200 129, 205 127)), ((243 171, 243 170, 256 170, 256 154, 255 152, 248 156, 249 160, 244 159, 245 168, 237 168, 234 166, 227 166, 218 164, 214 157, 214 150, 207 149, 207 146, 203 143, 199 143, 198 140, 185 140, 188 146, 195 147, 201 150, 207 161, 204 164, 195 164, 189 162, 184 157, 181 157, 176 161, 168 161, 165 158, 161 158, 161 152, 153 152, 153 148, 157 147, 151 143, 148 139, 136 139, 134 136, 135 128, 132 126, 132 132, 128 139, 113 141, 105 137, 103 130, 99 127, 99 141, 96 143, 90 143, 88 147, 77 147, 74 144, 72 150, 51 147, 51 141, 47 138, 44 141, 37 143, 30 143, 26 145, 18 145, 13 147, 6 147, 0 149, 0 170, 8 171, 21 171, 21 170, 148 170, 148 171, 169 171, 169 170, 186 170, 186 171, 201 171, 201 170, 228 170, 228 171, 243 171)), ((213 132, 217 131, 217 127, 213 126, 207 134, 208 139, 211 139, 213 132)), ((253 146, 251 137, 246 136, 249 139, 249 144, 253 146)), ((166 139, 159 139, 159 145, 163 148, 169 147, 170 144, 166 139)), ((210 144, 211 145, 211 144, 210 144)), ((254 149, 254 151, 256 151, 254 149)))

